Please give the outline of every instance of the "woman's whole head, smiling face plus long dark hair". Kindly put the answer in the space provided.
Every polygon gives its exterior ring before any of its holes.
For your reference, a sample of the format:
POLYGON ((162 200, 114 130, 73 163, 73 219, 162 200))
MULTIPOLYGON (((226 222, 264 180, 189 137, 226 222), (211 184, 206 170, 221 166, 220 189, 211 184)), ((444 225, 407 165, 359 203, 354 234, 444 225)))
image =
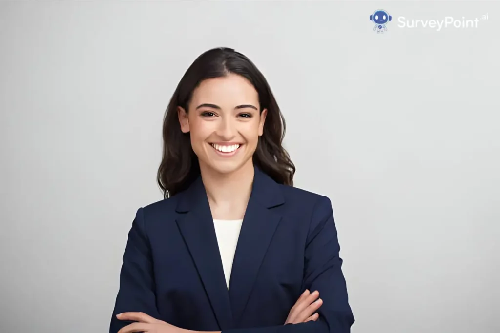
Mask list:
POLYGON ((295 166, 281 144, 284 132, 284 118, 257 67, 232 49, 208 50, 187 69, 168 104, 158 184, 166 198, 199 175, 198 162, 230 172, 243 161, 252 167, 253 156, 253 164, 276 182, 292 185, 295 166), (221 151, 240 144, 244 151, 212 160, 211 144, 221 151))

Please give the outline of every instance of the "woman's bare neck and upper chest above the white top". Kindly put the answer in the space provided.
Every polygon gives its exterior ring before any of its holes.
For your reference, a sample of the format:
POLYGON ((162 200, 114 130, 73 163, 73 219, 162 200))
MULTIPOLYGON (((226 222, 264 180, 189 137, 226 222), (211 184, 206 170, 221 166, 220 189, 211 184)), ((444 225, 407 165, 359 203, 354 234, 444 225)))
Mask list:
POLYGON ((213 218, 242 218, 255 174, 252 161, 229 174, 220 174, 201 165, 200 172, 213 218))

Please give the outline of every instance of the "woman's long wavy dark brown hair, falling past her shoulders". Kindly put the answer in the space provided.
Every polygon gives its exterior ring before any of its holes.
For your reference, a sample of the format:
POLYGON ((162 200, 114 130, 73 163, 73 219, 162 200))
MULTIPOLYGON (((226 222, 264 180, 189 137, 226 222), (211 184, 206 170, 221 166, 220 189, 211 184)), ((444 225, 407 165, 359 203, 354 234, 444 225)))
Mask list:
POLYGON ((250 81, 258 93, 260 112, 267 109, 263 133, 252 157, 253 164, 275 182, 293 186, 295 166, 282 146, 285 121, 266 79, 246 56, 232 48, 218 47, 205 51, 194 60, 180 79, 166 108, 162 131, 163 156, 157 173, 164 198, 185 190, 200 175, 189 133, 180 130, 177 107, 188 112, 193 90, 201 81, 230 73, 250 81))

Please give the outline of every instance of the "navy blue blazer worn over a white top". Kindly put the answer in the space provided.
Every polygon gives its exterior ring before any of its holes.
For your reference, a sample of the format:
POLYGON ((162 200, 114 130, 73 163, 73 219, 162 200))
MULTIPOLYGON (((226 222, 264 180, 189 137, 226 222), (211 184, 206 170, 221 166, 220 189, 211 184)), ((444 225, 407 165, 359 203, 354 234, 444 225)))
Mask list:
POLYGON ((143 312, 177 327, 222 333, 348 333, 354 318, 330 200, 255 168, 229 289, 198 178, 137 210, 123 254, 109 332, 143 312), (319 319, 283 325, 300 294, 319 291, 319 319))

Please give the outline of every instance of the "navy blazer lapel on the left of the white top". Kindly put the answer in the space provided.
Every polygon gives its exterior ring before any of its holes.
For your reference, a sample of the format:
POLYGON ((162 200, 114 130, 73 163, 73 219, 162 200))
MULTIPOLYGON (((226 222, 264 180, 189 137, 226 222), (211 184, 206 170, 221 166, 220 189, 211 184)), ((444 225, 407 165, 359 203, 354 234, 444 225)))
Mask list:
POLYGON ((198 178, 179 193, 176 219, 206 291, 220 330, 232 328, 232 315, 222 261, 206 192, 198 178))

